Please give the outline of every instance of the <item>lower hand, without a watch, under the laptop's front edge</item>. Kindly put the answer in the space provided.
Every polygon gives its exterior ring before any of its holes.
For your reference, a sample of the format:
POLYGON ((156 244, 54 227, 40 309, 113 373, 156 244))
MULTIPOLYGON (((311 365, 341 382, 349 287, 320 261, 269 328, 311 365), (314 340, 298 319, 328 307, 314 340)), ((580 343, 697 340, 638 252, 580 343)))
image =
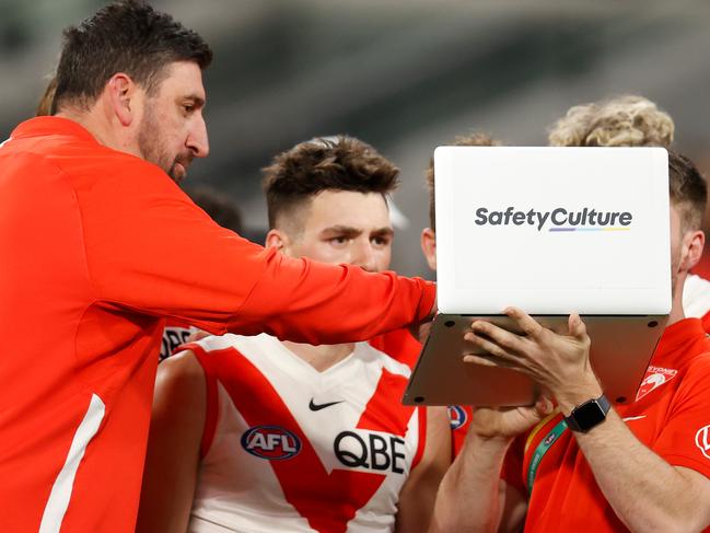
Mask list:
POLYGON ((481 439, 517 437, 552 413, 554 406, 546 397, 527 407, 479 407, 474 413, 470 432, 481 439))

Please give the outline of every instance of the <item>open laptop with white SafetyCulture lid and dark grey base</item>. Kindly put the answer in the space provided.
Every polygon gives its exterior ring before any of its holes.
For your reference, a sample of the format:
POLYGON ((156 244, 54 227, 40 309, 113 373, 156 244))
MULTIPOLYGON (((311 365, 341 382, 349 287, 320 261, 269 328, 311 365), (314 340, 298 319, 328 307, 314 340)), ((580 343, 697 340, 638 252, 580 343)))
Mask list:
POLYGON ((671 310, 667 153, 661 148, 440 147, 438 303, 404 402, 529 405, 523 374, 463 362, 475 317, 515 305, 566 331, 578 312, 612 402, 630 402, 671 310))

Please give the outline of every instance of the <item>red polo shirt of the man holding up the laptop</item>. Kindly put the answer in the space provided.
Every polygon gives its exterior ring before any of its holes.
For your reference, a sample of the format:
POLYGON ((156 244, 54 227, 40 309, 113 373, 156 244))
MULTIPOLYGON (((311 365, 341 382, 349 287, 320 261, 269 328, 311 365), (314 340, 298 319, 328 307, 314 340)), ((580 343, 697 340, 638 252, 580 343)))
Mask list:
MULTIPOLYGON (((636 402, 614 408, 633 434, 674 466, 710 477, 710 343, 698 318, 668 326, 653 354, 636 402)), ((528 496, 526 532, 627 531, 597 486, 592 468, 567 429, 557 440, 556 415, 516 439, 505 457, 503 478, 528 496), (533 484, 533 454, 547 440, 533 484)), ((619 450, 618 453, 625 453, 619 450)))

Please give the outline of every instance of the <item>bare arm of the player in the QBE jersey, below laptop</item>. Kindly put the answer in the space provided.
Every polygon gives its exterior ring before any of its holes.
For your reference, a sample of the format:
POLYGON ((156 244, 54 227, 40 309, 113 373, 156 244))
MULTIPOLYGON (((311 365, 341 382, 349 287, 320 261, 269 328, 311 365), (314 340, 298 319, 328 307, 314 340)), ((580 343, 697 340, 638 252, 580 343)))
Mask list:
MULTIPOLYGON (((422 407, 423 408, 423 407, 422 407)), ((427 531, 442 477, 451 464, 451 427, 445 407, 427 407, 423 454, 399 491, 396 531, 427 531)))

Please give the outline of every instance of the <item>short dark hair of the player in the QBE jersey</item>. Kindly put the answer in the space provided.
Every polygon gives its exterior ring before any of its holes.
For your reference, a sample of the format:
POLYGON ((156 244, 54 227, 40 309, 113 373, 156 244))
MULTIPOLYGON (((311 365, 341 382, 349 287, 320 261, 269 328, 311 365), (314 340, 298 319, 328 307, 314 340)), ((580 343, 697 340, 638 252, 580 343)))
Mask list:
POLYGON ((263 169, 269 227, 323 190, 386 195, 399 169, 359 139, 338 136, 301 142, 263 169))

